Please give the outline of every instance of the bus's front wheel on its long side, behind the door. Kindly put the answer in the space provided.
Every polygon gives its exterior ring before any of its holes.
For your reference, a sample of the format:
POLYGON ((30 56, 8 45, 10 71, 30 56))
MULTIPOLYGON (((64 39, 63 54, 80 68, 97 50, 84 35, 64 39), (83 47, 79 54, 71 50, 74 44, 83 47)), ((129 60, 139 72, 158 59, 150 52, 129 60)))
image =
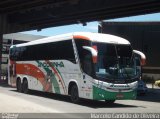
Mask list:
POLYGON ((78 103, 79 102, 79 93, 78 93, 78 87, 77 85, 72 85, 71 87, 71 93, 70 93, 70 98, 71 98, 71 101, 73 103, 78 103))

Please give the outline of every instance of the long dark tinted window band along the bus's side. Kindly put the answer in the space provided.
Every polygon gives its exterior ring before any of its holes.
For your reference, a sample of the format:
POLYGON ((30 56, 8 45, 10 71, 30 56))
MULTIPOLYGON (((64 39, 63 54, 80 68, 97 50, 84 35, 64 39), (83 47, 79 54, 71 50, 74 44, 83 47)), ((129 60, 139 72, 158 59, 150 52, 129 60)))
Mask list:
POLYGON ((75 63, 72 40, 17 47, 15 49, 15 53, 14 48, 11 49, 10 57, 17 61, 61 59, 75 63))

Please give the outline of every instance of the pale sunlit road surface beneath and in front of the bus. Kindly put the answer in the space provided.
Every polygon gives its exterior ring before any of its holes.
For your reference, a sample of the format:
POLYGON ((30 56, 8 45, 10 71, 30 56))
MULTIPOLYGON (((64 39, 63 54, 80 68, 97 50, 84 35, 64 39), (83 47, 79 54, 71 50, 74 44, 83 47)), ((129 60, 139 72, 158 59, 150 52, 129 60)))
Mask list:
POLYGON ((149 89, 147 95, 136 100, 117 100, 109 106, 102 101, 84 99, 73 104, 68 96, 37 91, 23 94, 1 85, 0 107, 1 113, 160 113, 160 88, 149 89))

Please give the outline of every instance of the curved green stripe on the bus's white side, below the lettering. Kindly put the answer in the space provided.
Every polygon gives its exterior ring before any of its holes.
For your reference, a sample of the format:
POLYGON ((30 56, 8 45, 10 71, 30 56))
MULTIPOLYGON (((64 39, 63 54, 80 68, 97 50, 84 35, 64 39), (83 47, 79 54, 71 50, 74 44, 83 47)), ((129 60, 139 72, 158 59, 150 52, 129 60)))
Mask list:
MULTIPOLYGON (((36 62, 38 63, 38 65, 41 64, 40 61, 36 61, 36 62)), ((52 82, 52 84, 54 86, 55 93, 60 94, 59 84, 58 84, 58 82, 56 80, 55 74, 48 67, 44 67, 43 65, 42 65, 42 67, 48 74, 50 74, 51 82, 52 82)))

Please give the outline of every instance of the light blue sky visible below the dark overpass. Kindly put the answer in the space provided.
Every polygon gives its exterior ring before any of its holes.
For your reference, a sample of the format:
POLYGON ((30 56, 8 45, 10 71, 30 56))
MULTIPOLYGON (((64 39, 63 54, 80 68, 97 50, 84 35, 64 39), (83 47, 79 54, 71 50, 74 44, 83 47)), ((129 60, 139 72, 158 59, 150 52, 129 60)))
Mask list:
MULTIPOLYGON (((103 21, 159 21, 160 22, 160 13, 154 13, 154 14, 147 14, 147 15, 138 15, 138 16, 132 16, 132 17, 124 17, 124 18, 118 18, 118 19, 110 19, 110 20, 103 20, 103 21)), ((26 31, 22 32, 25 34, 33 34, 33 35, 42 35, 42 36, 54 36, 64 33, 70 33, 70 32, 98 32, 98 22, 87 22, 86 26, 83 26, 82 24, 73 24, 73 25, 65 25, 65 26, 59 26, 59 27, 51 27, 51 28, 45 28, 41 31, 33 30, 33 31, 26 31)))

